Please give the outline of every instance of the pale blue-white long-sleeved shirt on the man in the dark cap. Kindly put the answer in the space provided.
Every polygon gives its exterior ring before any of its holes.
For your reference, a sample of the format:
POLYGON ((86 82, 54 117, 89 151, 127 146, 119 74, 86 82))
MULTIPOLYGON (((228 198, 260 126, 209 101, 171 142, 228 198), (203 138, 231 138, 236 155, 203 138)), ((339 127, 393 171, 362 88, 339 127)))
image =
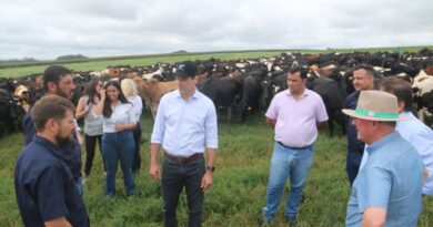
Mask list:
POLYGON ((180 157, 218 148, 213 102, 199 91, 189 101, 179 90, 167 93, 158 107, 151 143, 162 144, 165 152, 180 157))

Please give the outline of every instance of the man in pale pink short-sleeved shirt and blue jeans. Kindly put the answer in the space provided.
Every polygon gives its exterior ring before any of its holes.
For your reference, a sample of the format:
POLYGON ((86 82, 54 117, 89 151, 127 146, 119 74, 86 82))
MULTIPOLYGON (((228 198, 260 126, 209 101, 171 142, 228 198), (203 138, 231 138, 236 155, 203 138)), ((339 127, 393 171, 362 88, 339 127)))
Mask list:
MULTIPOLYGON (((285 218, 290 226, 298 226, 296 214, 310 168, 313 164, 313 144, 318 127, 328 121, 322 97, 305 87, 306 71, 292 68, 289 71, 289 90, 278 93, 268 109, 266 123, 275 131, 275 143, 266 188, 266 206, 263 224, 272 223, 290 177, 285 218)), ((263 225, 264 226, 264 225, 263 225)))

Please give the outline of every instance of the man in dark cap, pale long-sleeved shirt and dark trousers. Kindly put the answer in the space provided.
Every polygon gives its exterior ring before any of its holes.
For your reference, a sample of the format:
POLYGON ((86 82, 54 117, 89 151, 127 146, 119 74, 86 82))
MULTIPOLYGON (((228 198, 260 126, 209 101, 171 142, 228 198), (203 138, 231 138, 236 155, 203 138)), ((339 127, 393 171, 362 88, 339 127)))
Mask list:
POLYGON ((161 179, 164 226, 178 226, 177 206, 183 187, 189 226, 201 226, 203 190, 213 182, 218 149, 216 112, 212 101, 197 90, 197 74, 193 62, 179 65, 175 72, 179 90, 161 99, 153 125, 150 175, 153 179, 161 179), (161 144, 164 149, 162 176, 158 164, 161 144))

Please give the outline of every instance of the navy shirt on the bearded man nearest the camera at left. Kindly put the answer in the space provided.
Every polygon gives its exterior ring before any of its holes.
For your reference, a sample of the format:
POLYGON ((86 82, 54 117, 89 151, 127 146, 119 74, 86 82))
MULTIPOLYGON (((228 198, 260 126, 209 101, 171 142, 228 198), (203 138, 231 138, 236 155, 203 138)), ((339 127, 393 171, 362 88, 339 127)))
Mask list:
POLYGON ((24 226, 66 217, 72 226, 89 226, 84 203, 78 193, 64 151, 36 135, 19 155, 14 187, 24 226))

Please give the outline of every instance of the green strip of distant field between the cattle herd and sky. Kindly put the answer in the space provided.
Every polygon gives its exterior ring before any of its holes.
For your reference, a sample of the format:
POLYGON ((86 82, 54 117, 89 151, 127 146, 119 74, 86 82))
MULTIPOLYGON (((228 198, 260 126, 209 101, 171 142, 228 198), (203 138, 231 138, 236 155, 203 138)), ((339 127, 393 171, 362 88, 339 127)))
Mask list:
MULTIPOLYGON (((109 65, 129 64, 131 66, 147 66, 157 62, 174 63, 184 60, 207 60, 210 58, 231 60, 231 59, 253 59, 253 58, 270 58, 279 55, 282 52, 301 52, 301 53, 324 53, 324 52, 377 52, 393 51, 392 48, 365 48, 365 49, 329 49, 329 50, 260 50, 260 51, 228 51, 228 52, 203 52, 203 53, 177 53, 177 54, 149 54, 149 55, 124 55, 124 56, 107 56, 107 58, 90 58, 83 60, 71 61, 43 61, 31 63, 0 63, 0 78, 19 78, 32 73, 41 73, 51 64, 62 64, 75 71, 101 71, 109 65)), ((421 49, 433 49, 433 45, 426 47, 401 47, 400 51, 416 52, 421 49)))

